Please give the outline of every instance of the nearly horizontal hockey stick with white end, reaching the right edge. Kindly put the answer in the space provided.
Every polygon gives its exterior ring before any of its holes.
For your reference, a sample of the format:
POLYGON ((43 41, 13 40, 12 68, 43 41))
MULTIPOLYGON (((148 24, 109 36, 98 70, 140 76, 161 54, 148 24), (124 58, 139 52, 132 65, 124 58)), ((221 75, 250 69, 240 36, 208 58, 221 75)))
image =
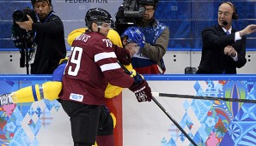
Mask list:
POLYGON ((210 100, 210 101, 256 103, 256 100, 252 100, 252 99, 235 99, 235 98, 226 98, 226 97, 217 97, 217 96, 216 97, 215 96, 190 96, 190 95, 168 94, 168 93, 158 93, 158 92, 152 92, 152 95, 177 97, 177 98, 203 99, 203 100, 210 100))

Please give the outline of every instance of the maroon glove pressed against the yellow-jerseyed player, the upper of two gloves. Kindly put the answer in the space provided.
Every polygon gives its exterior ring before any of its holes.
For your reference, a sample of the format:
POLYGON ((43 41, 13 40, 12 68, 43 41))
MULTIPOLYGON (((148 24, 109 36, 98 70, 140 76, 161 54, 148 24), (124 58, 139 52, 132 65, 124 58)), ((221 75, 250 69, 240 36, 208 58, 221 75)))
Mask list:
POLYGON ((113 45, 113 49, 114 49, 114 52, 117 55, 117 58, 118 58, 120 63, 122 63, 124 65, 129 65, 130 64, 131 55, 130 55, 130 52, 128 50, 120 48, 117 45, 113 45))

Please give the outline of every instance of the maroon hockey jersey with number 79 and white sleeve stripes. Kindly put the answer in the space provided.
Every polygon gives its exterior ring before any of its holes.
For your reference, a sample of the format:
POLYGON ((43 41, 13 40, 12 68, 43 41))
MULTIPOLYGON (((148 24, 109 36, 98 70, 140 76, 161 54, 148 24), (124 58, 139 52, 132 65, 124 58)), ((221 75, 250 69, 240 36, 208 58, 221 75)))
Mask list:
POLYGON ((131 87, 133 79, 119 66, 112 47, 112 42, 98 32, 85 32, 77 37, 65 67, 59 98, 101 105, 108 82, 131 87))

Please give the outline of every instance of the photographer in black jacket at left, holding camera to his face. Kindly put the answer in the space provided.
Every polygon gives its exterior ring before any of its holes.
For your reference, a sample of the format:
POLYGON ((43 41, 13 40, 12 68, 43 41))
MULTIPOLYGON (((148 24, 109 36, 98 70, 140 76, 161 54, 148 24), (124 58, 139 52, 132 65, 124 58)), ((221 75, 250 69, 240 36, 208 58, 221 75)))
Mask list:
POLYGON ((64 25, 53 14, 52 0, 31 0, 37 22, 27 15, 26 21, 15 21, 21 29, 34 32, 34 55, 30 60, 31 74, 52 74, 66 55, 64 25), (34 56, 34 57, 33 57, 34 56))

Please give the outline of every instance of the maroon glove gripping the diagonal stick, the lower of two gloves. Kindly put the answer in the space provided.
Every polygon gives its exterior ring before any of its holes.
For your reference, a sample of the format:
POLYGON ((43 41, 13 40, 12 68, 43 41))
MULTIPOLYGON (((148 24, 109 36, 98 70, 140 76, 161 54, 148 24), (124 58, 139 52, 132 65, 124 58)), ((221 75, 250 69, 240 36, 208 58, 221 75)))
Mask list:
POLYGON ((151 89, 144 79, 141 82, 135 81, 129 89, 135 93, 135 96, 137 97, 137 102, 151 102, 151 89))

